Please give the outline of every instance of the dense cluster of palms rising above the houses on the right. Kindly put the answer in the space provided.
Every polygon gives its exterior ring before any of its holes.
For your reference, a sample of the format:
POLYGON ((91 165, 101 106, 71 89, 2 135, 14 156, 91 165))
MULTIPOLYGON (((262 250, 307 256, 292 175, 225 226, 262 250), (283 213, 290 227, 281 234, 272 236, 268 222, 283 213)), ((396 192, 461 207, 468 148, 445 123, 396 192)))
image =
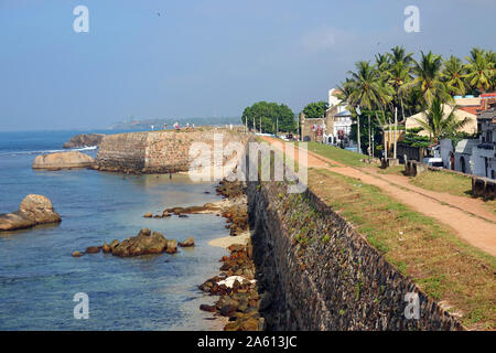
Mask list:
MULTIPOLYGON (((494 90, 495 71, 496 53, 493 51, 475 47, 465 56, 465 62, 454 55, 444 60, 432 52, 420 52, 417 61, 413 53, 396 46, 390 52, 377 54, 374 63, 357 62, 355 71, 348 72, 337 87, 336 96, 355 119, 366 109, 382 128, 392 124, 397 111, 403 120, 407 115, 427 111, 427 119, 419 124, 434 141, 455 133, 466 124, 466 119, 456 120, 453 111, 444 117, 443 106, 453 105, 455 95, 476 96, 494 90)), ((358 136, 359 126, 357 124, 358 136)))

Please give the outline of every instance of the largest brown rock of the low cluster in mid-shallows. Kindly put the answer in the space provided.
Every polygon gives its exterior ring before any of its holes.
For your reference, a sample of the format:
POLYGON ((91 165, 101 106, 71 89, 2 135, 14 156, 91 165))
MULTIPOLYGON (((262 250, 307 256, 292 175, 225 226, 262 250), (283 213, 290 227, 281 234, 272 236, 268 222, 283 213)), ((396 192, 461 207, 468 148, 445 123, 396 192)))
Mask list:
POLYGON ((159 232, 150 233, 148 228, 141 229, 137 236, 127 238, 116 245, 112 248, 112 255, 128 257, 163 253, 168 247, 168 239, 159 232))

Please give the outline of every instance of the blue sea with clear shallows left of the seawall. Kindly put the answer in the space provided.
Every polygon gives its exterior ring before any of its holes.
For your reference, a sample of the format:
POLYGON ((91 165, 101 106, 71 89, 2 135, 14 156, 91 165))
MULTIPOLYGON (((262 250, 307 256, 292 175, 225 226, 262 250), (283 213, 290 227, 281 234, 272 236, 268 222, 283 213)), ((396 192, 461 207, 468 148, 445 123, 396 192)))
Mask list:
MULTIPOLYGON (((0 233, 0 330, 222 329, 219 320, 200 311, 214 298, 197 286, 218 274, 218 260, 227 254, 207 244, 229 234, 225 220, 143 218, 147 212, 218 201, 215 184, 191 182, 184 174, 123 179, 86 169, 31 169, 37 154, 63 150, 82 132, 0 132, 0 213, 17 211, 25 195, 35 193, 47 196, 63 220, 0 233), (72 257, 74 250, 122 240, 144 227, 179 242, 193 236, 196 246, 175 255, 72 257), (78 292, 89 298, 88 319, 74 318, 78 292)), ((83 152, 95 157, 97 151, 83 152)))

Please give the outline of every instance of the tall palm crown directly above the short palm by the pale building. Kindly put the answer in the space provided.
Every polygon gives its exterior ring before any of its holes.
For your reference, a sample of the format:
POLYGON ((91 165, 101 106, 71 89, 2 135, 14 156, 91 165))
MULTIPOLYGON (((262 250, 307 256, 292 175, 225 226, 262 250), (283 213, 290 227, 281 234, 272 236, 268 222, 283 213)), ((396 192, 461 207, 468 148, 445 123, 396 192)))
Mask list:
POLYGON ((442 101, 453 101, 448 93, 448 88, 441 81, 441 68, 443 58, 429 52, 427 55, 421 52, 422 57, 414 63, 413 73, 417 77, 407 85, 408 88, 418 88, 422 93, 423 105, 429 108, 434 98, 442 101))

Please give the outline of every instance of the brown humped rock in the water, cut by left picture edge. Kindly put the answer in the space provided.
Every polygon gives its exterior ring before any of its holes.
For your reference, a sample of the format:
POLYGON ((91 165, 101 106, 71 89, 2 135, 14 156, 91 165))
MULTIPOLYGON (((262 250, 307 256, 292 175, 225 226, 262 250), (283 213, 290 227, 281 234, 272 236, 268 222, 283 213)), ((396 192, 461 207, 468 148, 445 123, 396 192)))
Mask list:
POLYGON ((30 194, 22 200, 19 211, 0 214, 0 231, 22 229, 36 224, 61 221, 61 216, 54 211, 52 202, 47 197, 30 194))

